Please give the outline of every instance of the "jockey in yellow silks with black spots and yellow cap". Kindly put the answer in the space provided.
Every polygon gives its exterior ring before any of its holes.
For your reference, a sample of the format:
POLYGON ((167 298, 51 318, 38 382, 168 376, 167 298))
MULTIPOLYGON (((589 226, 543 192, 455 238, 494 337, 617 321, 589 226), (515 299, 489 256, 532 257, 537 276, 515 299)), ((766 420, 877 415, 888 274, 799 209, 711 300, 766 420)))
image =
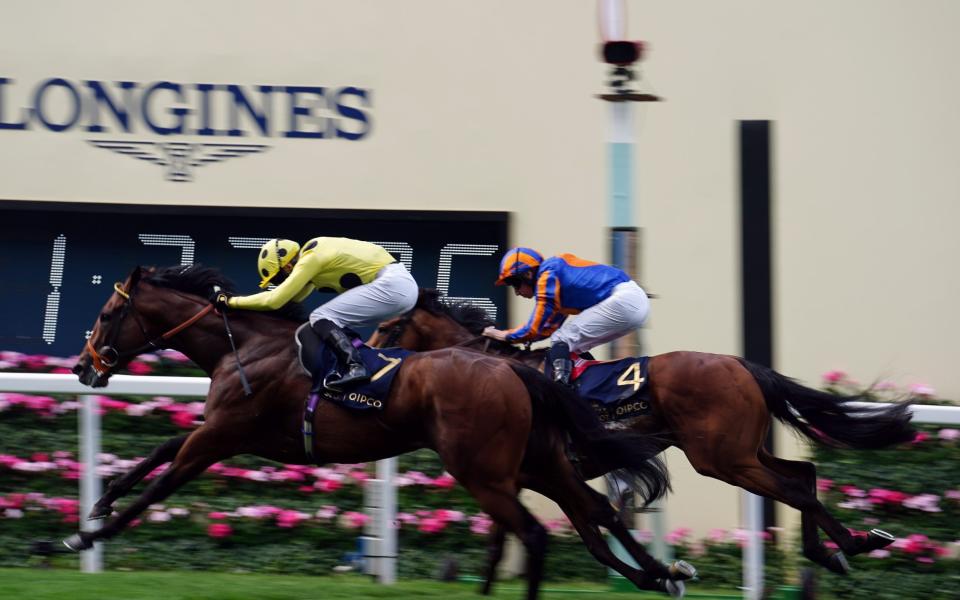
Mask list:
POLYGON ((348 238, 318 237, 301 249, 292 240, 272 239, 260 248, 260 287, 276 287, 252 296, 224 296, 217 304, 249 310, 277 310, 291 300, 302 302, 314 290, 339 296, 310 313, 310 328, 347 366, 330 387, 370 378, 359 351, 341 329, 377 323, 411 310, 418 287, 406 267, 376 244, 348 238))

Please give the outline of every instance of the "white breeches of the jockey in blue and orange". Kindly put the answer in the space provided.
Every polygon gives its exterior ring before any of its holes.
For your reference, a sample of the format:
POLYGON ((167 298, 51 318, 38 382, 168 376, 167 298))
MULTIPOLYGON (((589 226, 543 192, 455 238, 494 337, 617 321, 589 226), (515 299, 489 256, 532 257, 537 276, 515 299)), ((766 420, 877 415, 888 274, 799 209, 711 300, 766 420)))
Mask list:
POLYGON ((550 343, 566 342, 571 351, 586 352, 638 329, 649 312, 646 292, 636 282, 625 281, 605 300, 564 321, 550 343))

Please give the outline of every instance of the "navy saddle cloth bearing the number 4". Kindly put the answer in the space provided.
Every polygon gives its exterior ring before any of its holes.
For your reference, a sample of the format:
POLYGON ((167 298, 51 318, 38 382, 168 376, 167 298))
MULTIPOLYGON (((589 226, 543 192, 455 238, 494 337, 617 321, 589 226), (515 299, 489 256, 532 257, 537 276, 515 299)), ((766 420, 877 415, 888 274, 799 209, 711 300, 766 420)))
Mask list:
POLYGON ((601 421, 618 421, 650 413, 650 357, 614 361, 577 360, 571 381, 601 421))

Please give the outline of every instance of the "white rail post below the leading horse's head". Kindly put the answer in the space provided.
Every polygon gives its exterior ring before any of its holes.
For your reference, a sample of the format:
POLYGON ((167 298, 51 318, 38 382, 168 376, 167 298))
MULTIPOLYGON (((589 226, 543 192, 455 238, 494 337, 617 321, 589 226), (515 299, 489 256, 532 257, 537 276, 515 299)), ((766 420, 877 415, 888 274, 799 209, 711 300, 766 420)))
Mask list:
MULTIPOLYGON (((100 475, 97 473, 97 456, 100 454, 100 402, 97 396, 81 397, 80 409, 80 462, 83 474, 80 478, 80 530, 96 531, 100 521, 88 521, 87 515, 100 498, 100 475)), ((103 570, 103 546, 95 542, 93 548, 80 554, 80 570, 84 573, 99 573, 103 570)))

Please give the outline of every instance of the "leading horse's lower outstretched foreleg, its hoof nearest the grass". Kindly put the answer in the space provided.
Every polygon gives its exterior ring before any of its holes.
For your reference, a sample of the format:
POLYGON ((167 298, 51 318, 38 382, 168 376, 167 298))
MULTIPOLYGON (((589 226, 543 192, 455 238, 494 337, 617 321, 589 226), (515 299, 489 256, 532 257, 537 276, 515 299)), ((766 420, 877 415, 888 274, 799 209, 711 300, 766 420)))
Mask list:
POLYGON ((112 538, 151 504, 162 501, 218 460, 235 454, 235 450, 224 449, 223 440, 217 431, 201 426, 188 436, 170 468, 153 480, 130 506, 107 521, 102 528, 96 531, 81 531, 63 543, 71 550, 79 551, 92 547, 97 540, 112 538))

